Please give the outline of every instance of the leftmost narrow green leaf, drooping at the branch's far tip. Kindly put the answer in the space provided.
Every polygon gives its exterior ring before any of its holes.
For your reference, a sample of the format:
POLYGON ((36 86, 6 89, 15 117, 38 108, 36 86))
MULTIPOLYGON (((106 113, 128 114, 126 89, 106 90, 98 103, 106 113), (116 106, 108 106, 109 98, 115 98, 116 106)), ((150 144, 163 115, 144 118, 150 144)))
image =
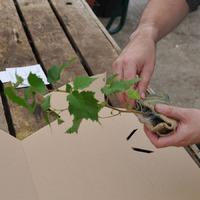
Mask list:
POLYGON ((19 106, 25 107, 27 109, 30 109, 30 106, 28 103, 25 101, 25 99, 21 98, 20 96, 17 95, 17 92, 15 88, 13 87, 6 87, 4 89, 6 96, 14 103, 16 103, 19 106))

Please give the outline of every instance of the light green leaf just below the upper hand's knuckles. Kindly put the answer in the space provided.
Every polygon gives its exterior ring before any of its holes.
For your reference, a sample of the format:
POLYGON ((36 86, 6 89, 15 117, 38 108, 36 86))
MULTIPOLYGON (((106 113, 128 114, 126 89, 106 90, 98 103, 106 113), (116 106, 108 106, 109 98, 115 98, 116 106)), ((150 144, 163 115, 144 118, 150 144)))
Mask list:
POLYGON ((116 94, 118 92, 126 92, 129 88, 133 87, 139 81, 139 78, 134 78, 131 80, 116 80, 111 84, 103 87, 101 91, 107 96, 116 94))

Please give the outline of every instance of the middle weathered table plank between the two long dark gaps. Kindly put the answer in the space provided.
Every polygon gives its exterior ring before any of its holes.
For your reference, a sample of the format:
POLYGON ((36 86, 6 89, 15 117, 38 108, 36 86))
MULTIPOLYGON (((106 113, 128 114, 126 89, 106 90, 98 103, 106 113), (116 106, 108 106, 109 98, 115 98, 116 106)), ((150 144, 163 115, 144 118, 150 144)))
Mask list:
POLYGON ((63 74, 56 87, 62 86, 69 78, 86 75, 48 1, 17 0, 17 2, 46 71, 52 65, 63 64, 71 58, 77 58, 77 62, 63 74))

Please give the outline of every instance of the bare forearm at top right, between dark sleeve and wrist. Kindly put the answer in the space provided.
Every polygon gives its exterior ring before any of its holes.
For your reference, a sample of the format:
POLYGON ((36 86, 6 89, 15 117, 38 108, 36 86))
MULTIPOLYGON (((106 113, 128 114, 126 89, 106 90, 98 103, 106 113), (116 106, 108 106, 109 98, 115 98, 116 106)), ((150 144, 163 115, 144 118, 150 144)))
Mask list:
POLYGON ((186 0, 150 0, 136 32, 146 34, 157 42, 172 31, 188 12, 186 0))

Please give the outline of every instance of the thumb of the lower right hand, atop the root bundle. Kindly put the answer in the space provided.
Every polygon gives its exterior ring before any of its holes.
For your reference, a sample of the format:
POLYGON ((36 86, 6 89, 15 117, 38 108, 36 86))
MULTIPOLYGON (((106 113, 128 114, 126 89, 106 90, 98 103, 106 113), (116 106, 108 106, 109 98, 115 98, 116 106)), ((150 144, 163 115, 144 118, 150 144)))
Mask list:
POLYGON ((176 119, 176 120, 183 120, 185 117, 184 109, 175 107, 175 106, 168 106, 164 104, 157 104, 155 106, 155 110, 167 117, 176 119))

